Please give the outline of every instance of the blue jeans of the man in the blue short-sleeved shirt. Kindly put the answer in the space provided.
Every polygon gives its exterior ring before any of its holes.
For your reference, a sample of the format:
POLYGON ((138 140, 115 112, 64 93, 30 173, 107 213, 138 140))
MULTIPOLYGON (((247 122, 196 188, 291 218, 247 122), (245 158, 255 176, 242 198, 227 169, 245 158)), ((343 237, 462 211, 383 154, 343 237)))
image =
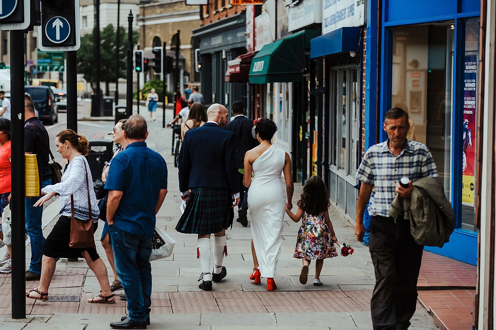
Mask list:
POLYGON ((109 225, 117 276, 123 283, 129 318, 145 322, 150 317, 152 268, 148 259, 153 236, 136 236, 109 225))

